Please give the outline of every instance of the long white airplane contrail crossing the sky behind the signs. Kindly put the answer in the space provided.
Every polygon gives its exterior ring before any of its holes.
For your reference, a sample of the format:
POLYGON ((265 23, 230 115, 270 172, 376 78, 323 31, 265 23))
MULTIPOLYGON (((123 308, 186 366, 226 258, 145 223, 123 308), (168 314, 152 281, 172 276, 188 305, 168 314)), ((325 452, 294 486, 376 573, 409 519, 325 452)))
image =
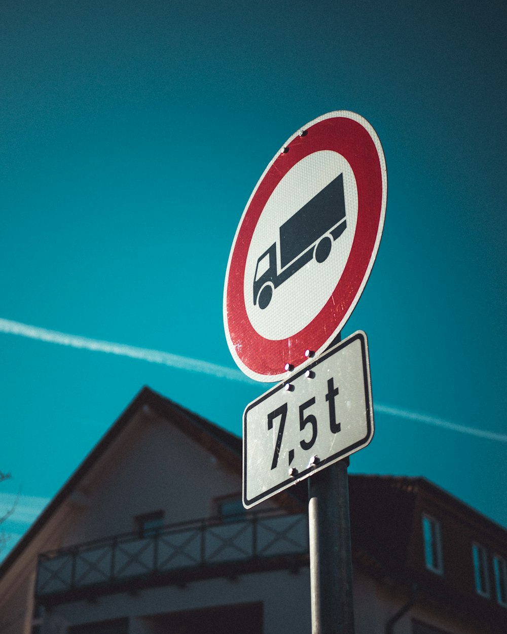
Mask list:
MULTIPOLYGON (((134 346, 126 346, 125 344, 115 344, 110 341, 101 341, 98 339, 89 339, 88 337, 80 337, 79 335, 69 335, 56 330, 47 330, 37 326, 29 326, 18 321, 11 321, 0 318, 0 332, 10 335, 20 335, 21 337, 29 337, 39 341, 46 341, 51 344, 59 344, 60 346, 70 346, 79 349, 86 349, 95 352, 118 354, 132 359, 141 359, 142 361, 150 361, 151 363, 161 363, 172 368, 180 368, 181 370, 189 370, 190 372, 200 372, 209 374, 214 377, 228 378, 229 380, 241 381, 246 383, 254 383, 252 379, 246 377, 240 370, 226 368, 209 361, 200 361, 200 359, 192 359, 189 357, 179 356, 178 354, 164 353, 159 350, 151 350, 149 348, 139 348, 134 346)), ((468 427, 468 425, 458 425, 448 420, 420 414, 414 411, 402 410, 392 406, 375 403, 374 411, 394 416, 396 418, 404 418, 405 420, 414 420, 435 427, 442 427, 461 434, 469 434, 492 441, 507 443, 507 434, 491 432, 477 427, 468 427)))

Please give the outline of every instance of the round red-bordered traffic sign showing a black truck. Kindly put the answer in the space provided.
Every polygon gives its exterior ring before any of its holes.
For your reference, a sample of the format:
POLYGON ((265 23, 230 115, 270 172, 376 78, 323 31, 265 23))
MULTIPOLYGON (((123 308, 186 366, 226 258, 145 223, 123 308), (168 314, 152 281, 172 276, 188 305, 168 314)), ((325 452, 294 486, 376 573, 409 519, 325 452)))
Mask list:
POLYGON ((335 339, 373 267, 386 201, 382 145, 356 113, 314 119, 271 160, 236 230, 224 289, 229 349, 248 377, 281 380, 335 339))

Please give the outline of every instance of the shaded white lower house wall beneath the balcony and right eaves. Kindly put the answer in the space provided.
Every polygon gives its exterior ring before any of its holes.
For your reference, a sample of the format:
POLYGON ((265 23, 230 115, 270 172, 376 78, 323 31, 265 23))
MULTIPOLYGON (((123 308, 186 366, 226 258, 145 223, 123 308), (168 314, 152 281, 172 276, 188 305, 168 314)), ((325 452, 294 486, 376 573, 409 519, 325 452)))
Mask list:
MULTIPOLYGON (((356 634, 385 634, 385 625, 408 597, 389 590, 363 573, 354 574, 354 618, 356 634)), ((249 604, 263 605, 263 634, 309 634, 311 632, 310 578, 304 567, 290 571, 242 574, 234 580, 217 578, 194 581, 183 588, 163 586, 129 595, 118 593, 95 602, 61 605, 53 612, 56 623, 97 623, 113 618, 129 619, 129 634, 158 634, 150 618, 165 614, 198 611, 207 607, 249 604)), ((439 613, 440 612, 440 613, 439 613)), ((395 624, 394 634, 412 634, 416 618, 449 634, 478 634, 456 619, 446 618, 415 605, 395 624)), ((487 630, 484 630, 487 634, 487 630)))

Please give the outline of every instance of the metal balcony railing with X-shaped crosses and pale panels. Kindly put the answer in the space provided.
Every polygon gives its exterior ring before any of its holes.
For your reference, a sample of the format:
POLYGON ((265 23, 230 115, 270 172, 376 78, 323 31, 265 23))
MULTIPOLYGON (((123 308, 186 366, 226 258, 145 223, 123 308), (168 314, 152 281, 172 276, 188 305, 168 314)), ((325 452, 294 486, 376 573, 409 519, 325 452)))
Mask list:
POLYGON ((129 581, 192 567, 307 553, 307 515, 252 514, 172 524, 39 555, 35 595, 129 581))

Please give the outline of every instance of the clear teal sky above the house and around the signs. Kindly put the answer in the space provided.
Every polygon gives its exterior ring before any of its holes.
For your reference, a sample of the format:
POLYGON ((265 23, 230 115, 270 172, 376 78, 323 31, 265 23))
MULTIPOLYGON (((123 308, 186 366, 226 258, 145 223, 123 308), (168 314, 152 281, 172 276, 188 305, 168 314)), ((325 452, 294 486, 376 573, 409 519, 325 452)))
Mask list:
POLYGON ((236 227, 285 140, 331 110, 371 122, 388 171, 382 243, 343 330, 368 334, 377 406, 350 470, 424 475, 507 526, 506 18, 493 1, 1 4, 0 503, 21 491, 8 532, 143 385, 240 434, 268 385, 185 359, 234 370, 236 227))

